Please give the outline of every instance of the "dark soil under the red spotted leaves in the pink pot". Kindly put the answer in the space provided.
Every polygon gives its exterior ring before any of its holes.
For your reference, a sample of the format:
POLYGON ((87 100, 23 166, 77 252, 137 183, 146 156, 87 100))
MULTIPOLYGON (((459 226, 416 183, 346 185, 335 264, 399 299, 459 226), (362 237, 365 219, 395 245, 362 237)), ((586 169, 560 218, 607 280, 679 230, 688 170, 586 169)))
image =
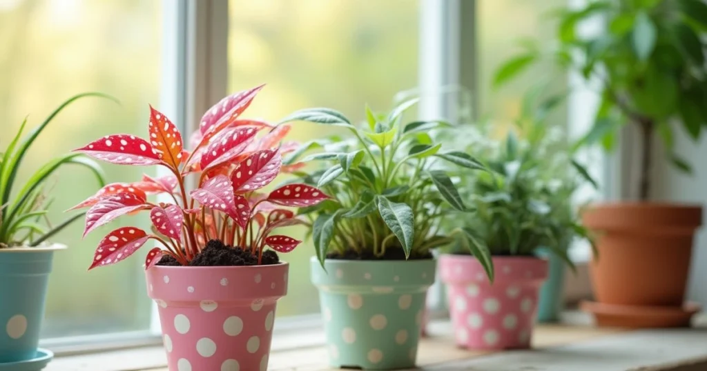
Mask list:
MULTIPOLYGON (((278 264, 280 257, 272 250, 263 252, 262 265, 278 264)), ((255 266, 258 257, 244 251, 240 247, 226 246, 220 240, 209 240, 206 247, 197 254, 189 266, 255 266)), ((177 259, 165 255, 157 263, 158 266, 181 266, 177 259)))

